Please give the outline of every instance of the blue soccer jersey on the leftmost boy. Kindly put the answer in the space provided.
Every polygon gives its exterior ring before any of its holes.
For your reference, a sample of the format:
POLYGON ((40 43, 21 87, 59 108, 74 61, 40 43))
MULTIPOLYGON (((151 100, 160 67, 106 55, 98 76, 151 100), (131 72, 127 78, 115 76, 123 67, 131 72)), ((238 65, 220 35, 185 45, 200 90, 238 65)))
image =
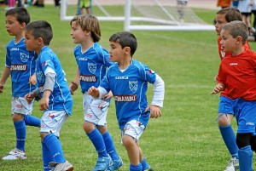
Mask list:
POLYGON ((5 66, 10 68, 13 97, 23 97, 37 88, 28 83, 29 77, 35 73, 36 53, 26 50, 24 39, 15 43, 14 38, 7 45, 5 66))

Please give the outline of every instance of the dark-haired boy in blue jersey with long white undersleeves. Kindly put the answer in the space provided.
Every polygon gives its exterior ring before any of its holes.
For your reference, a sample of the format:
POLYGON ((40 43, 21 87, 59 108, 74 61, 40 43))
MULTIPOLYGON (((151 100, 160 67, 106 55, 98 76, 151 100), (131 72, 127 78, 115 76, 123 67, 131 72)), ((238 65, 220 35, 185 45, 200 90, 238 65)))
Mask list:
POLYGON ((160 117, 163 106, 165 83, 148 66, 134 60, 137 39, 130 32, 118 32, 109 38, 110 66, 98 88, 91 87, 88 94, 102 99, 112 91, 116 106, 116 117, 121 130, 122 144, 125 145, 130 171, 153 169, 143 157, 138 140, 148 125, 149 117, 160 117), (148 83, 154 84, 151 105, 147 102, 148 83))

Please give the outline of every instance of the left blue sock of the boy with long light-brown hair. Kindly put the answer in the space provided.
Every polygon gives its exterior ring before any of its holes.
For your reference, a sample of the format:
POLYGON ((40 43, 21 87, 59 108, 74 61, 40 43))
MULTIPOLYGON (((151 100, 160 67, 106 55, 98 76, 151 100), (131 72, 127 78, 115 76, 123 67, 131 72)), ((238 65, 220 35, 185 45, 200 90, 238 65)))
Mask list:
POLYGON ((92 144, 96 148, 98 152, 98 157, 108 157, 108 153, 106 151, 105 143, 102 137, 102 134, 97 128, 94 128, 89 134, 87 134, 92 144))

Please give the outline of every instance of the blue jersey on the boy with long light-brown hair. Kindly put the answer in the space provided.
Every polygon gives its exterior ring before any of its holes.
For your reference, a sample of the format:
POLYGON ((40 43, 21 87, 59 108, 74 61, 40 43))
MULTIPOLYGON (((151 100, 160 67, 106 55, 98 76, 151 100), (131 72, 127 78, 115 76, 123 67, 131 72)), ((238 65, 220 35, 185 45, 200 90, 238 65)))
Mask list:
POLYGON ((79 65, 80 86, 82 93, 88 91, 91 86, 98 87, 106 74, 106 69, 113 63, 109 60, 108 51, 99 43, 82 52, 82 46, 74 48, 74 56, 79 65))

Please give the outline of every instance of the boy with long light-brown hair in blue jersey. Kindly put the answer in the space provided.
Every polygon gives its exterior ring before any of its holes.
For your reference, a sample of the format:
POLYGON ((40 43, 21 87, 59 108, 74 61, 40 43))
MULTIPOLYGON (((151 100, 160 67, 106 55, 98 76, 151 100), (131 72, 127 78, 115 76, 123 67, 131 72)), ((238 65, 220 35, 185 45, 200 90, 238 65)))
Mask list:
POLYGON ((84 94, 84 132, 98 153, 93 170, 116 170, 123 165, 123 161, 115 150, 107 128, 110 99, 93 100, 90 94, 87 94, 91 86, 100 85, 106 69, 113 63, 109 60, 108 51, 98 43, 101 39, 101 29, 95 16, 76 16, 70 21, 70 25, 73 42, 79 44, 73 51, 79 67, 70 91, 73 94, 80 85, 84 94))

